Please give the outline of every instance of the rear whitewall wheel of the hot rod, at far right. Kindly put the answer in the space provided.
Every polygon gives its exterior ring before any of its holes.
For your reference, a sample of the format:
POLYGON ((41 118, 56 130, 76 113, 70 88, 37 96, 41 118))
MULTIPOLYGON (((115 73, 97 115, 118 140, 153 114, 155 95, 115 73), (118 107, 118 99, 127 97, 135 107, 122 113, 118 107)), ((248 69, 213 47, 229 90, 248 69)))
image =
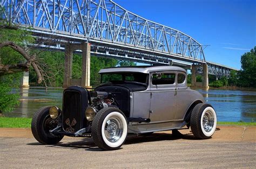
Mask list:
POLYGON ((216 112, 210 104, 197 104, 191 113, 191 131, 196 138, 211 138, 217 126, 216 112))

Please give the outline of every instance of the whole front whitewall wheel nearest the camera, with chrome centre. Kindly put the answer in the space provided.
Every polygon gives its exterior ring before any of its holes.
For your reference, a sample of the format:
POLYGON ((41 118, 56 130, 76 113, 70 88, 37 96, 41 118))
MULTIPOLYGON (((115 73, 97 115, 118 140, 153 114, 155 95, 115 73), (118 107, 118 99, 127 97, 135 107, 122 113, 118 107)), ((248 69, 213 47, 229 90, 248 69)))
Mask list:
POLYGON ((100 110, 92 121, 92 138, 103 150, 117 150, 127 136, 127 120, 116 108, 100 110))

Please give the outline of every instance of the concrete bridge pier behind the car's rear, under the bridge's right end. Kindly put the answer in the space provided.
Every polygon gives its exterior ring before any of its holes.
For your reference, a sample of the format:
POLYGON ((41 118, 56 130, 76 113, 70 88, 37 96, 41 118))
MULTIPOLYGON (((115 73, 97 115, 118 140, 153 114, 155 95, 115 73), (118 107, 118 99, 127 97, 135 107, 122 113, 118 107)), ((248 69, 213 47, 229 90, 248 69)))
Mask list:
POLYGON ((191 66, 191 87, 203 87, 205 90, 209 89, 208 86, 208 66, 207 64, 192 65, 191 66), (198 69, 203 67, 203 72, 198 72, 198 69), (197 75, 203 75, 203 82, 197 82, 197 75))

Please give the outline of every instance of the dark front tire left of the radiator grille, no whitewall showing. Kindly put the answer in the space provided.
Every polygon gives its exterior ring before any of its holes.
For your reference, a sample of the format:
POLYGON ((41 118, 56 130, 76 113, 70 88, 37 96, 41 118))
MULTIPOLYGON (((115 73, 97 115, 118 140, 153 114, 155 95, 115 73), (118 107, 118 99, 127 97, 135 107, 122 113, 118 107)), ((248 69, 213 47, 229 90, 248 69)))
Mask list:
POLYGON ((42 144, 57 144, 64 136, 54 136, 49 130, 55 129, 58 125, 57 119, 49 115, 51 106, 44 106, 39 109, 32 118, 31 130, 35 139, 42 144))

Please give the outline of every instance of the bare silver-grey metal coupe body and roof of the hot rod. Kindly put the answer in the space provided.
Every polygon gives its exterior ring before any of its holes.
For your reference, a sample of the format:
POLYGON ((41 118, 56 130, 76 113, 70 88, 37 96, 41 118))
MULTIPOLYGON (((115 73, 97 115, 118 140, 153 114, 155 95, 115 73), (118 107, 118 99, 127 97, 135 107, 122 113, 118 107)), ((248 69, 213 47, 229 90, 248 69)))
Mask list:
POLYGON ((185 116, 194 103, 205 103, 203 96, 187 87, 186 70, 177 66, 152 67, 114 67, 102 69, 99 73, 141 72, 149 74, 147 89, 130 92, 130 117, 149 118, 150 123, 130 122, 129 133, 146 133, 180 129, 187 125, 185 116), (174 73, 173 84, 153 85, 152 76, 158 73, 174 73), (178 83, 178 74, 183 74, 185 80, 178 83))

